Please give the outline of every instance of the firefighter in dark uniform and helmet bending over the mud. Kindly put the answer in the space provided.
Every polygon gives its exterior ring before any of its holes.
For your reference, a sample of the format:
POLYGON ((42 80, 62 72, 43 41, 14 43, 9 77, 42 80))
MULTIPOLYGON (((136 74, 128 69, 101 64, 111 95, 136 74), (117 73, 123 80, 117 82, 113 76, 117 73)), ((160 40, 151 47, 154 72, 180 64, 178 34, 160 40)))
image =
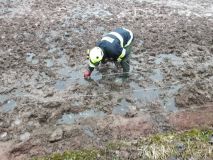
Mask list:
POLYGON ((104 35, 89 51, 89 66, 84 72, 84 78, 90 78, 94 68, 107 61, 119 62, 123 68, 123 77, 128 77, 132 41, 133 33, 125 28, 117 28, 104 35))

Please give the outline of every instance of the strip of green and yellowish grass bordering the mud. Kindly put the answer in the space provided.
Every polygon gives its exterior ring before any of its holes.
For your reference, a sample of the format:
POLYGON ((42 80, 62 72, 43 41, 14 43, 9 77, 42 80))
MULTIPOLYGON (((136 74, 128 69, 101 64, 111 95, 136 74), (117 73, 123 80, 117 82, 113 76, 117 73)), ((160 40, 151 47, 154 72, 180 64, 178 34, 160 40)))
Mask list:
POLYGON ((135 141, 111 141, 105 149, 68 151, 54 153, 34 160, 93 160, 93 159, 134 159, 164 160, 170 157, 181 159, 213 159, 213 145, 209 143, 213 130, 193 129, 150 135, 135 141), (123 153, 125 152, 125 156, 123 153), (128 157, 127 157, 128 156, 128 157))

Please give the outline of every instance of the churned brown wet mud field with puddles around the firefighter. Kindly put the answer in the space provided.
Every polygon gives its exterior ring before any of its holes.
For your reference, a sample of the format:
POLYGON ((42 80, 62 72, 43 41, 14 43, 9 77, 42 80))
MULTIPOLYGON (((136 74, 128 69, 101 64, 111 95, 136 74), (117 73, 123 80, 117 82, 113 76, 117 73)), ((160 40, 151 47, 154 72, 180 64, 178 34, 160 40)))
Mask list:
POLYGON ((0 0, 0 159, 212 127, 212 7, 0 0), (107 63, 84 80, 86 50, 120 26, 135 35, 130 77, 122 81, 121 68, 107 63))

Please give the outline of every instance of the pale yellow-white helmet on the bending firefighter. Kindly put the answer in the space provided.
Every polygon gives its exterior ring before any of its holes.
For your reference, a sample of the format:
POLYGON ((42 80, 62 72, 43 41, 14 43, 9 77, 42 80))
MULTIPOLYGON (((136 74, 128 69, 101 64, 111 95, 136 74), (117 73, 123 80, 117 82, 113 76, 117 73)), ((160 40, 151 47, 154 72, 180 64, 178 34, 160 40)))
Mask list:
POLYGON ((92 61, 92 63, 97 63, 102 60, 104 56, 104 53, 100 47, 94 47, 90 50, 89 58, 92 61))

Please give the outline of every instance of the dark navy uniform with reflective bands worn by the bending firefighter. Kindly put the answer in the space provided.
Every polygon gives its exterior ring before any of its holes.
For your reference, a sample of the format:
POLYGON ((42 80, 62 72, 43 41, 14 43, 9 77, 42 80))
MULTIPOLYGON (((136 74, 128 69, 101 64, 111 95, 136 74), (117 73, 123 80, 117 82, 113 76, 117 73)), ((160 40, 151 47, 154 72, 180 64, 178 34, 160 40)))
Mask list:
MULTIPOLYGON (((104 35, 101 41, 96 43, 96 46, 100 47, 104 53, 101 62, 118 61, 123 68, 123 72, 129 72, 129 54, 132 41, 133 33, 125 28, 117 28, 104 35)), ((98 64, 90 61, 89 71, 92 72, 98 64)))

